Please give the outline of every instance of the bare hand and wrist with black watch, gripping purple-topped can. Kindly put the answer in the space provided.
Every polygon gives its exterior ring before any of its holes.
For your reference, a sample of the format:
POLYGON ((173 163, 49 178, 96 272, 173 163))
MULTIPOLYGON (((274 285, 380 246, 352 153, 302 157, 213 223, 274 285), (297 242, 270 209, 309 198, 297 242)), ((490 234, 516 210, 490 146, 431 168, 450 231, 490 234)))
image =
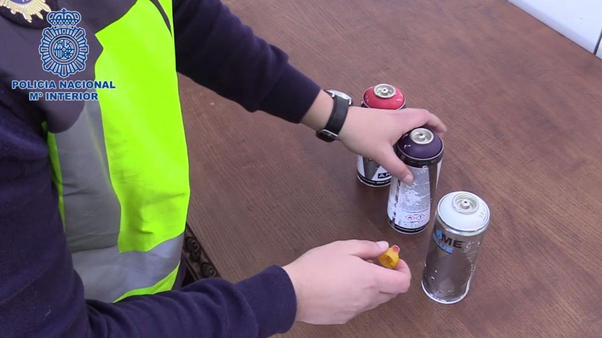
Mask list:
MULTIPOLYGON (((320 130, 326 125, 331 111, 332 97, 322 91, 302 123, 320 130)), ((391 175, 409 184, 414 177, 397 157, 393 146, 404 134, 421 126, 429 126, 439 136, 447 131, 445 124, 426 109, 386 110, 351 106, 338 140, 347 149, 373 159, 391 175)))

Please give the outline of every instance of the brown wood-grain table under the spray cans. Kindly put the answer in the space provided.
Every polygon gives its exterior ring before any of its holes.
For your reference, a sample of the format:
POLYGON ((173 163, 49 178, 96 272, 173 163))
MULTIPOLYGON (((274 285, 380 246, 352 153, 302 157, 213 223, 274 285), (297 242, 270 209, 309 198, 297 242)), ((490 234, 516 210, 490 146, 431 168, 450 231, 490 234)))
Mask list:
POLYGON ((448 125, 436 200, 467 189, 492 221, 465 300, 420 287, 429 226, 385 221, 388 189, 303 126, 182 79, 189 222, 220 274, 249 277, 337 239, 386 239, 414 273, 406 295, 347 325, 287 337, 594 337, 602 322, 602 60, 501 0, 226 1, 324 87, 359 101, 395 84, 448 125))

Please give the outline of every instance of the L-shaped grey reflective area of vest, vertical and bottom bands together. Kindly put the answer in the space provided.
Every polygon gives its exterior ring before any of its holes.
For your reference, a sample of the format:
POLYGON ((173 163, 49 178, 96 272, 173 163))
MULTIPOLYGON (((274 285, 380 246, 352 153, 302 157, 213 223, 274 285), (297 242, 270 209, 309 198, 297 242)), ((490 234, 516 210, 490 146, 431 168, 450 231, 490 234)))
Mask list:
POLYGON ((150 251, 119 253, 121 206, 111 185, 98 101, 86 102, 75 124, 54 136, 67 244, 85 297, 112 302, 163 280, 180 262, 184 235, 150 251))

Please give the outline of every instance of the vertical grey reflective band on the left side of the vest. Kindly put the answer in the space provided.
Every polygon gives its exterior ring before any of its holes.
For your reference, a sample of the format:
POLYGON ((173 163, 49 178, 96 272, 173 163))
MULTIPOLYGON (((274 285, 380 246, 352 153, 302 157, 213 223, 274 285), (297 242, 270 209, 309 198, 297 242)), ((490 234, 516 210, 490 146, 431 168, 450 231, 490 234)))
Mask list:
POLYGON ((117 245, 121 206, 109 176, 98 101, 87 101, 75 124, 54 136, 63 176, 65 233, 70 250, 117 245))

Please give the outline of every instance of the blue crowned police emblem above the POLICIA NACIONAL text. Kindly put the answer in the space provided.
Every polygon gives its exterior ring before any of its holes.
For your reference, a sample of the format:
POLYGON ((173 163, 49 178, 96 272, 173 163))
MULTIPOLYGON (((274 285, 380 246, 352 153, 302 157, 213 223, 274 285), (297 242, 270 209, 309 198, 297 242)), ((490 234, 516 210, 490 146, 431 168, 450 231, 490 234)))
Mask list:
POLYGON ((85 30, 76 26, 81 21, 77 11, 51 11, 46 20, 52 25, 42 31, 40 56, 42 68, 66 78, 85 69, 88 41, 85 30))

